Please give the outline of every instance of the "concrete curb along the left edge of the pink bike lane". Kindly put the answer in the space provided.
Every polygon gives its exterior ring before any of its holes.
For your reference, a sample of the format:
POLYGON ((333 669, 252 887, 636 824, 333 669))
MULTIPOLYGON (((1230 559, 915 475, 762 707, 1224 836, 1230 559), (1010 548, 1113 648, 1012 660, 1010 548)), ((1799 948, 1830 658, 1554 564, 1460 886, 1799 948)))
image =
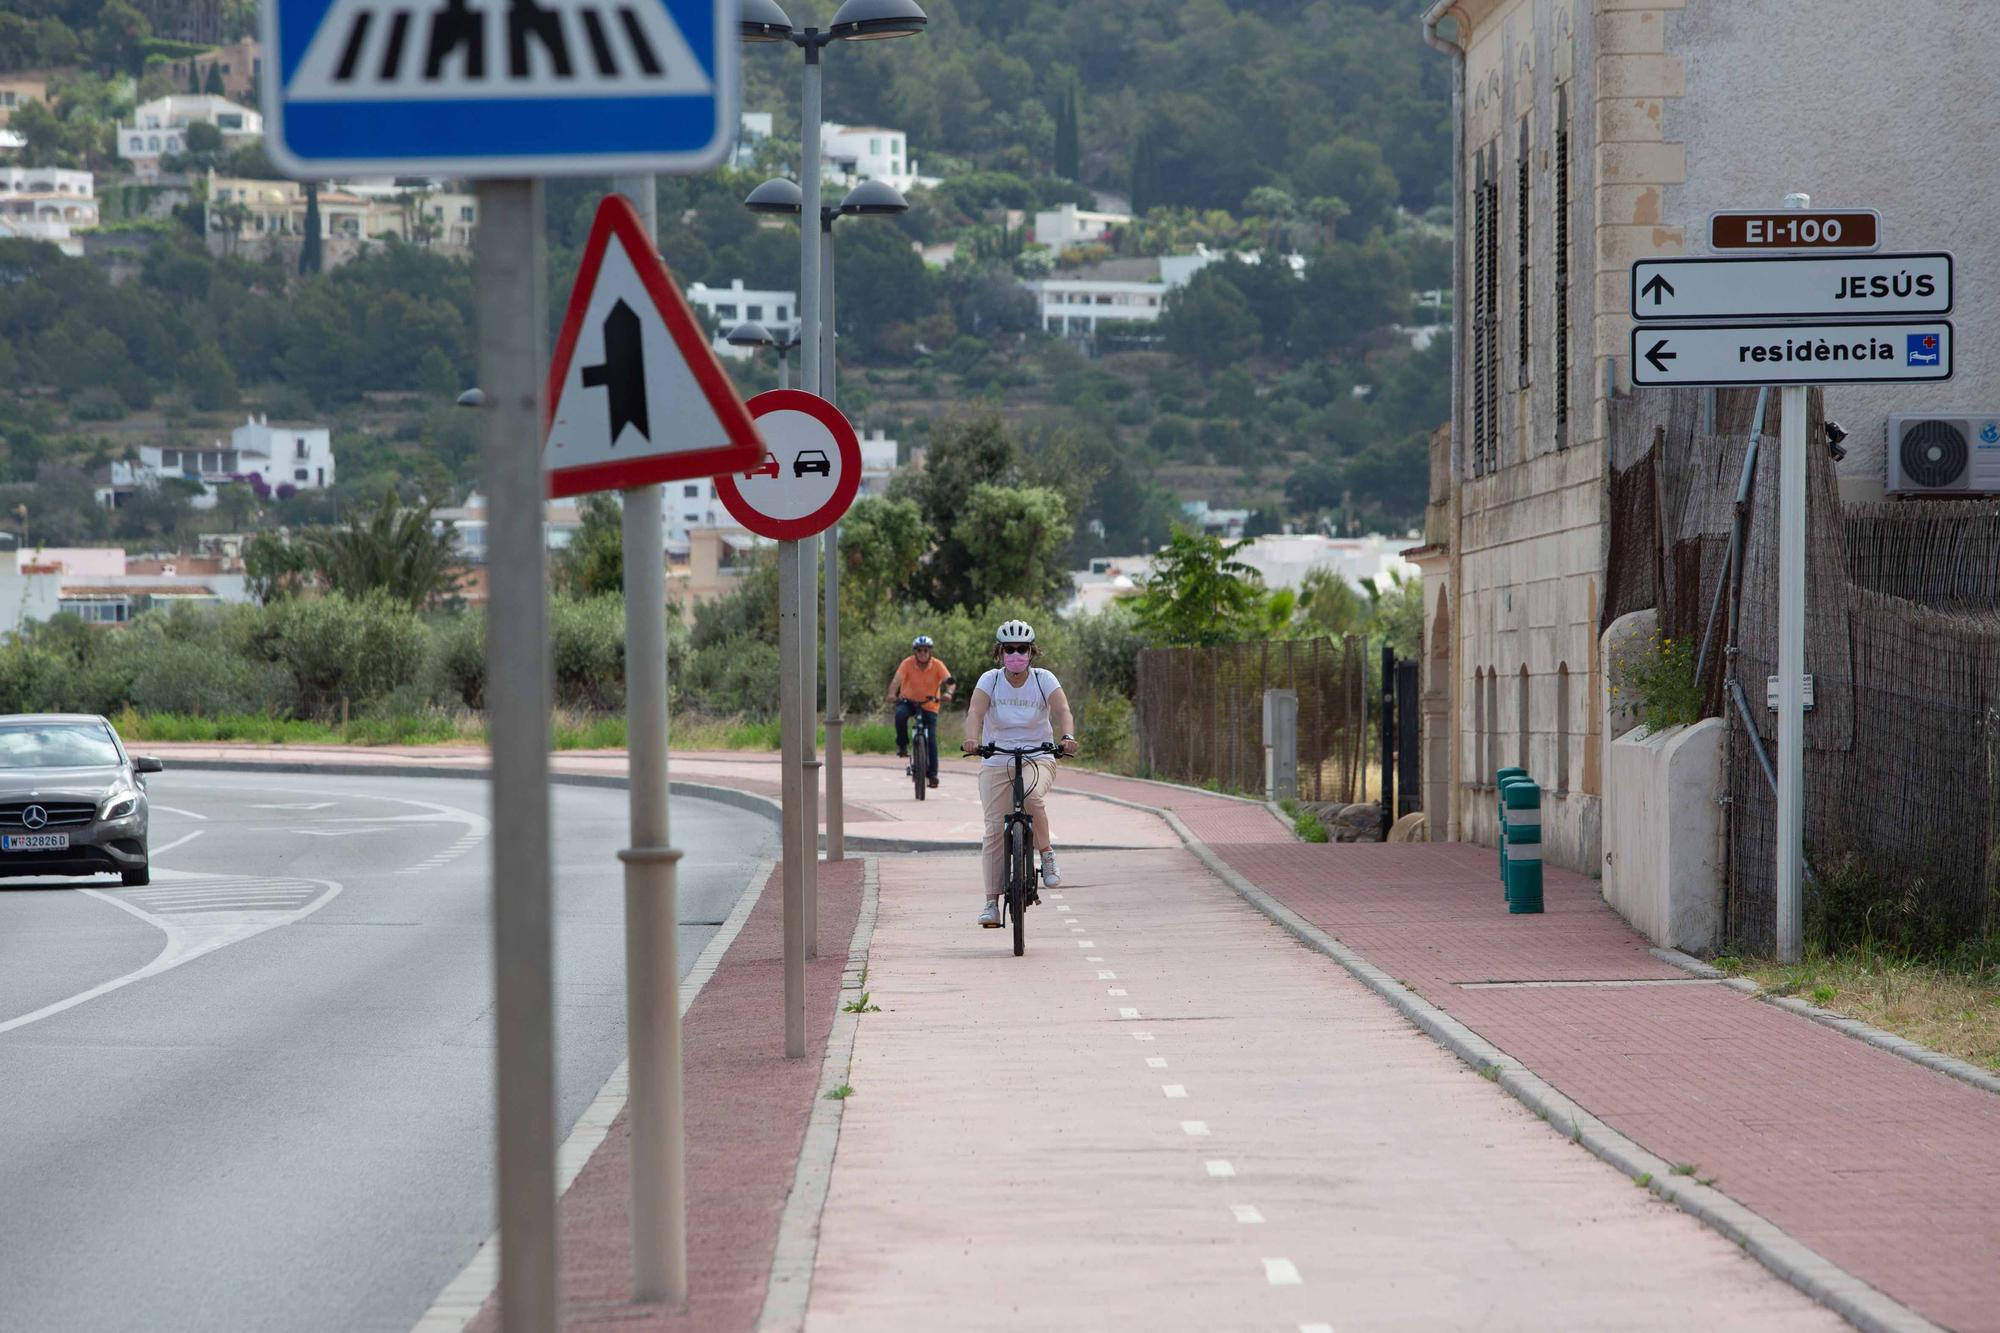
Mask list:
POLYGON ((854 1065, 854 1037, 862 1017, 846 1005, 864 995, 868 975, 868 945, 874 939, 876 905, 882 895, 880 867, 874 857, 862 859, 862 909, 848 941, 848 967, 840 975, 840 1009, 826 1035, 826 1057, 820 1063, 820 1091, 806 1121, 806 1139, 798 1149, 798 1171, 792 1193, 778 1219, 778 1245, 772 1249, 770 1281, 764 1285, 764 1311, 758 1333, 792 1333, 806 1325, 806 1305, 812 1299, 812 1267, 820 1255, 820 1215, 826 1211, 826 1191, 834 1181, 834 1153, 840 1147, 840 1117, 846 1099, 828 1093, 848 1081, 854 1065))

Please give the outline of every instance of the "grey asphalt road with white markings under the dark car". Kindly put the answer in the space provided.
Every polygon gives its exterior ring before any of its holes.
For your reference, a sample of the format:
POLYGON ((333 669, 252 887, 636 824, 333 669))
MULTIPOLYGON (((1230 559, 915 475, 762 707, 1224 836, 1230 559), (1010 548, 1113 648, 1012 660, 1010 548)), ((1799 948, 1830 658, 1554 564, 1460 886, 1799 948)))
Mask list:
MULTIPOLYGON (((166 773, 0 881, 0 1329, 406 1333, 494 1227, 486 785, 166 773)), ((626 795, 554 789, 558 1109, 624 1059, 626 795)), ((774 825, 674 801, 680 967, 774 825)))

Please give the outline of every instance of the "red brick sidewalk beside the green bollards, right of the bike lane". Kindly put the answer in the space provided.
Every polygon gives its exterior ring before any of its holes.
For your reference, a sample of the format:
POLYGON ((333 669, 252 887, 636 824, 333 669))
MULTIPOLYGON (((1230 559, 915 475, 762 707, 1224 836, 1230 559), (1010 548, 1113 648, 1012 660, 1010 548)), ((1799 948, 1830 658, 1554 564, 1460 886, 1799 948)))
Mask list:
POLYGON ((1508 917, 1484 847, 1302 845, 1266 837, 1254 805, 1072 785, 1172 809, 1258 889, 1610 1127, 1936 1323, 2000 1329, 2000 1097, 1688 979, 1580 875, 1550 869, 1546 915, 1508 917), (1532 985, 1550 981, 1666 985, 1532 985))

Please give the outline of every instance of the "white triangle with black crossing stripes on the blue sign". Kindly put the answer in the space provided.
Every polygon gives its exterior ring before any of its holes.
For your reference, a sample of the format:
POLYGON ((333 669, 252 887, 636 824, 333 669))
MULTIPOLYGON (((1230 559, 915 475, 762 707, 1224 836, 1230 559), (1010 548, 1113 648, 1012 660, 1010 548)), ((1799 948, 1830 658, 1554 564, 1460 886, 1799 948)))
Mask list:
POLYGON ((414 102, 712 88, 658 0, 336 0, 284 96, 414 102))

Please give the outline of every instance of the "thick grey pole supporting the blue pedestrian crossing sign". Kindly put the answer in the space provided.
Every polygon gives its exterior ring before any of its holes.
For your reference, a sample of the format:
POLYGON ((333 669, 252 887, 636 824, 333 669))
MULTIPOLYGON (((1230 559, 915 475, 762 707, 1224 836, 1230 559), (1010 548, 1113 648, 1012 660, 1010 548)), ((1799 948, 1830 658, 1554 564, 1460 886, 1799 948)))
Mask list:
POLYGON ((548 360, 542 184, 482 180, 474 260, 488 494, 486 719, 492 883, 500 1327, 556 1327, 556 1027, 550 959, 548 580, 542 376, 548 360))

